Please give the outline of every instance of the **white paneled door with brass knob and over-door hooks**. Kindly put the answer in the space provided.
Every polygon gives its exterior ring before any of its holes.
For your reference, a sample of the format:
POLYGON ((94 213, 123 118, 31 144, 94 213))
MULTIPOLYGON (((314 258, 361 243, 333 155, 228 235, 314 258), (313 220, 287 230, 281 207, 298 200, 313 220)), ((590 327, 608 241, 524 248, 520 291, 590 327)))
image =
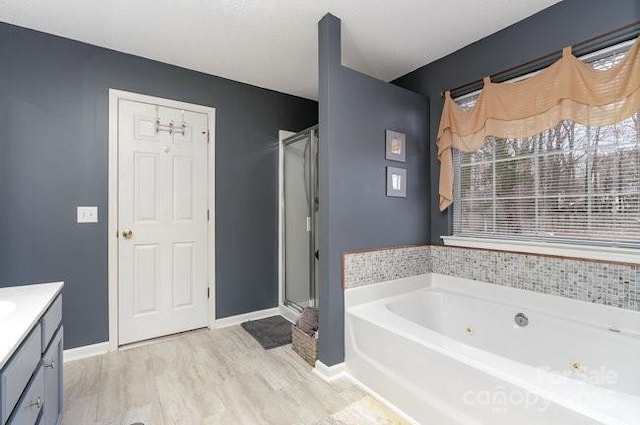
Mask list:
POLYGON ((118 103, 118 335, 207 326, 208 117, 118 103))

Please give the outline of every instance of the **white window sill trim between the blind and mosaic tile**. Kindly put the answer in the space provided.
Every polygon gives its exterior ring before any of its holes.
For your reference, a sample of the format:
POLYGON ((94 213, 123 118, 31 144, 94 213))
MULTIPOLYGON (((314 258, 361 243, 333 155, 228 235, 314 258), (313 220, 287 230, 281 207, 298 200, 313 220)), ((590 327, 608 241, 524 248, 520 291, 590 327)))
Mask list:
POLYGON ((494 251, 521 252, 523 254, 542 254, 575 259, 640 264, 640 249, 634 248, 463 236, 442 236, 442 240, 447 246, 463 248, 480 248, 494 251))

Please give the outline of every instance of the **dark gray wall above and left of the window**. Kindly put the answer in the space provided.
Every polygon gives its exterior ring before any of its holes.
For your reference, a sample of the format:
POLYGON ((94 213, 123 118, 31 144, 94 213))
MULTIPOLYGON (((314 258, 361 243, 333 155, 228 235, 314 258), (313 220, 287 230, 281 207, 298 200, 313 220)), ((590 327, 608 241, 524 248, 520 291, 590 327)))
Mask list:
POLYGON ((438 209, 436 137, 442 113, 442 91, 580 43, 640 19, 639 0, 564 0, 500 32, 425 65, 395 84, 429 98, 431 242, 450 234, 453 208, 438 209))

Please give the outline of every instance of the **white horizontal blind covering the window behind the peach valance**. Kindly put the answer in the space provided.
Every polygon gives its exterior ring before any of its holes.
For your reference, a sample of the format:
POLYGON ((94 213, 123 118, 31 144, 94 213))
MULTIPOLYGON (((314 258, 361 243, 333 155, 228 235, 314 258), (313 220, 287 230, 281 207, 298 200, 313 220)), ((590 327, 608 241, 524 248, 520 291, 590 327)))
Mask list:
MULTIPOLYGON (((599 70, 626 49, 590 55, 599 70)), ((456 101, 463 109, 476 96, 456 101)), ((454 150, 453 234, 640 246, 640 111, 609 126, 562 121, 532 137, 454 150)))

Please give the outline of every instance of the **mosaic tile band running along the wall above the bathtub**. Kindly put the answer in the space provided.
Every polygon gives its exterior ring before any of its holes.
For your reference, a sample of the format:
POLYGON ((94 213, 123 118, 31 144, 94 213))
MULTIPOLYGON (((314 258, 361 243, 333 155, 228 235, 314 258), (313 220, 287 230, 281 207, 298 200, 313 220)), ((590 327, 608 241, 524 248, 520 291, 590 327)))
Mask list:
POLYGON ((640 265, 441 245, 345 253, 346 289, 433 272, 640 311, 640 265))

